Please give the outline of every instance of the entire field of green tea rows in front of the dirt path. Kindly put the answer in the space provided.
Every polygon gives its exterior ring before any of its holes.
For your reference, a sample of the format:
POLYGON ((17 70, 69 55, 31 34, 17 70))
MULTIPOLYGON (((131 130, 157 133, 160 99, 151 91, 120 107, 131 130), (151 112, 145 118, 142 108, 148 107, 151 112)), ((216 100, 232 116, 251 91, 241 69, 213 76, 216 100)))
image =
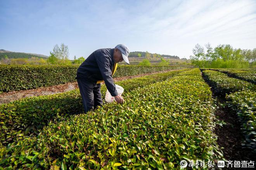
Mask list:
POLYGON ((220 104, 237 116, 237 147, 253 160, 254 83, 254 71, 194 68, 116 82, 125 103, 87 114, 79 89, 2 104, 0 169, 180 169, 182 160, 212 168, 228 158, 215 133, 220 104))

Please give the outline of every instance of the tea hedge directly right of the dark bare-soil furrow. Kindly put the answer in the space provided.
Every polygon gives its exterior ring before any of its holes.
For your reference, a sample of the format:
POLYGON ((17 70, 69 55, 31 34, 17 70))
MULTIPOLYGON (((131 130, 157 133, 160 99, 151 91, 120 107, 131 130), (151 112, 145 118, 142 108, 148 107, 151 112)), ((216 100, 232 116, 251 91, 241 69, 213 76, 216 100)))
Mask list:
MULTIPOLYGON (((229 70, 219 70, 229 71, 229 70)), ((239 71, 237 71, 239 72, 239 71)), ((248 71, 249 72, 249 71, 248 71)), ((243 147, 251 148, 256 152, 256 88, 255 85, 243 80, 228 77, 225 73, 218 71, 202 71, 206 81, 213 87, 218 95, 226 95, 225 104, 234 110, 241 122, 242 132, 245 136, 243 147)))

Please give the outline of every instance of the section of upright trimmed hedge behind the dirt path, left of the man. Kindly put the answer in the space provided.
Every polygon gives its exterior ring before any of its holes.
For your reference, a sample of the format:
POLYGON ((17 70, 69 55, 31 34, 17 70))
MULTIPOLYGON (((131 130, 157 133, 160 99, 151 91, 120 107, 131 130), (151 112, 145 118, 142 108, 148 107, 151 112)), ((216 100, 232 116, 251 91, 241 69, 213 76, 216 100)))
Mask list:
POLYGON ((1 65, 0 92, 28 90, 74 82, 78 66, 1 65))

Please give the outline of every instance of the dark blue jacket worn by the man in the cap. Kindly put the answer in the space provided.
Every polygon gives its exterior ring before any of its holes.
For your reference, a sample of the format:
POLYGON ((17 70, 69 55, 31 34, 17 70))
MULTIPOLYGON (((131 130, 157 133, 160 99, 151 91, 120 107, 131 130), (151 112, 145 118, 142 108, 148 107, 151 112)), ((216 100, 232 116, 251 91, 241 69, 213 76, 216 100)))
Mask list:
POLYGON ((97 49, 79 66, 76 79, 86 79, 92 83, 104 80, 107 90, 112 96, 116 96, 118 92, 112 78, 113 67, 114 48, 97 49))

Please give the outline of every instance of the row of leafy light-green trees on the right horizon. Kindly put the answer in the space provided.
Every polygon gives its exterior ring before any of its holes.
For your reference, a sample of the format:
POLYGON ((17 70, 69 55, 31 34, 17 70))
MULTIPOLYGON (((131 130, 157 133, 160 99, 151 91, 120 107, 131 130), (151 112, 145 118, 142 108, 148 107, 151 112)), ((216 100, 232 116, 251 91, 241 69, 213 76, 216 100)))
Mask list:
POLYGON ((201 68, 256 68, 256 48, 236 49, 229 44, 213 48, 208 43, 196 44, 192 51, 192 64, 201 68))

